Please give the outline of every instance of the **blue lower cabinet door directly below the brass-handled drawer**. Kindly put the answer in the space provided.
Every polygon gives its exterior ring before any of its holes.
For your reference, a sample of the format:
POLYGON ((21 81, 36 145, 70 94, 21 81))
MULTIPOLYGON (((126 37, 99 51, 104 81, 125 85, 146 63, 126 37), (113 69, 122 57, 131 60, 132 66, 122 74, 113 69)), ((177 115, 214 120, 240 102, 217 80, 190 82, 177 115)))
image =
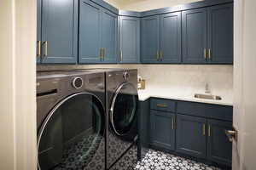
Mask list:
POLYGON ((174 150, 174 118, 175 115, 169 112, 150 111, 150 144, 174 150))

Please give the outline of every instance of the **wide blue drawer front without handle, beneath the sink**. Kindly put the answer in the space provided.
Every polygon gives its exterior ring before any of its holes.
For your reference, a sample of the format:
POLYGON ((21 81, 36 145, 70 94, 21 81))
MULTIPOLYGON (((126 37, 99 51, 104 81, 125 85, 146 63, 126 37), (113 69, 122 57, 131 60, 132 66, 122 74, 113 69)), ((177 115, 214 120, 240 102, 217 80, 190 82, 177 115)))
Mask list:
POLYGON ((233 107, 228 105, 211 105, 178 101, 177 113, 191 116, 203 116, 230 122, 233 120, 233 107))

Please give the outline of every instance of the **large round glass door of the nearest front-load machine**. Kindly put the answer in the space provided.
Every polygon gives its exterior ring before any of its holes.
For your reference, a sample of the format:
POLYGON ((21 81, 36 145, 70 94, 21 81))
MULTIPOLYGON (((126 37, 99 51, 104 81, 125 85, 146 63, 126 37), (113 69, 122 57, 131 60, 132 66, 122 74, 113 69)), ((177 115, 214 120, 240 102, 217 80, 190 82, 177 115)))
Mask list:
MULTIPOLYGON (((94 94, 63 99, 38 132, 38 169, 84 169, 94 157, 104 161, 104 123, 104 107, 94 94)), ((96 164, 104 169, 104 162, 96 164)))

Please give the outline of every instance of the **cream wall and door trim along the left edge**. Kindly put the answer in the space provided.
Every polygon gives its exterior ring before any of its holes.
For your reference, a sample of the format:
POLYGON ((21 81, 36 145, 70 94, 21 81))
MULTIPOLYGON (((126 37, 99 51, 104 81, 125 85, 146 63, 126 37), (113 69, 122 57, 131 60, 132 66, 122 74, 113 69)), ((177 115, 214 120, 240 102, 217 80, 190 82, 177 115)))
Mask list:
POLYGON ((0 169, 37 165, 36 1, 1 0, 0 169))

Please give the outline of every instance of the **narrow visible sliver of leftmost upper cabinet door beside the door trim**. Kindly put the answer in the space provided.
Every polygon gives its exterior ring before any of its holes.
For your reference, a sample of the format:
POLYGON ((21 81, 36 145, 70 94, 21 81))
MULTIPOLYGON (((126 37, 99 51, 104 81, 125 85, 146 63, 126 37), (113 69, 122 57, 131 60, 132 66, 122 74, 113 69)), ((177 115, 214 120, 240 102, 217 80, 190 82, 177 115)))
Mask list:
POLYGON ((37 63, 41 62, 41 54, 42 53, 42 41, 41 41, 41 8, 42 8, 42 1, 37 1, 37 9, 38 9, 38 16, 37 16, 37 63))

